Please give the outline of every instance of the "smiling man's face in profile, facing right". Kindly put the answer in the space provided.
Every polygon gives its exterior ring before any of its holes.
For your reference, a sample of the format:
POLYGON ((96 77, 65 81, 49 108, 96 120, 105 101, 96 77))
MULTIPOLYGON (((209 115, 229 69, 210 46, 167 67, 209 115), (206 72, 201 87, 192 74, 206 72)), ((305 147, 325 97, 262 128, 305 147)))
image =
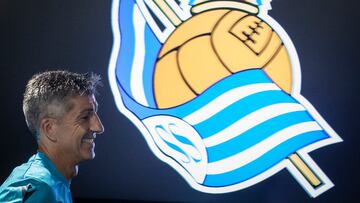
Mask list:
POLYGON ((69 104, 71 108, 58 120, 56 130, 59 148, 77 164, 95 157, 96 134, 101 134, 104 127, 94 95, 75 96, 69 104))

